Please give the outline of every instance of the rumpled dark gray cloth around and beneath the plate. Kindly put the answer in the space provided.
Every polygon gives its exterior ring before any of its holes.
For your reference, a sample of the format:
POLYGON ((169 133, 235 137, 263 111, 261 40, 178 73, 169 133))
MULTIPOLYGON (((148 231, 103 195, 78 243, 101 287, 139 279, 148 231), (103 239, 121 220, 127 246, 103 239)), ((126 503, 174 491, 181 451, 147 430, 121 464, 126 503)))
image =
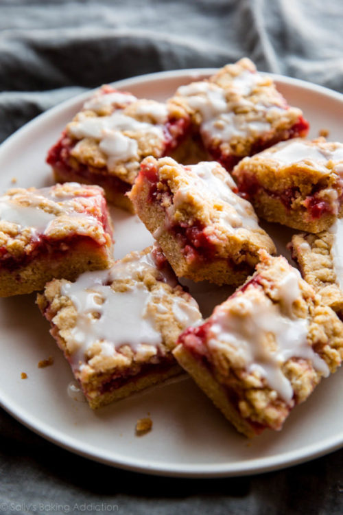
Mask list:
MULTIPOLYGON (((0 0, 0 141, 87 88, 242 56, 343 92, 342 15, 342 0, 0 0)), ((0 435, 3 513, 343 512, 342 451, 261 476, 187 480, 95 464, 4 411, 0 435)))

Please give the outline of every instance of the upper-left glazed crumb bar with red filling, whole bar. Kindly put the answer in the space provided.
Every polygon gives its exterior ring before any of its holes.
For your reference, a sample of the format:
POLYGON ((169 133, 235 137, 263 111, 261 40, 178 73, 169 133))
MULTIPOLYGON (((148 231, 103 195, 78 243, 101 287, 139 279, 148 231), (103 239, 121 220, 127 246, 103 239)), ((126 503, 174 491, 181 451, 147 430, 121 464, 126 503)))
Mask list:
POLYGON ((67 125, 47 163, 56 181, 98 184, 108 201, 132 209, 125 193, 143 157, 171 152, 188 129, 189 115, 180 106, 104 86, 67 125))

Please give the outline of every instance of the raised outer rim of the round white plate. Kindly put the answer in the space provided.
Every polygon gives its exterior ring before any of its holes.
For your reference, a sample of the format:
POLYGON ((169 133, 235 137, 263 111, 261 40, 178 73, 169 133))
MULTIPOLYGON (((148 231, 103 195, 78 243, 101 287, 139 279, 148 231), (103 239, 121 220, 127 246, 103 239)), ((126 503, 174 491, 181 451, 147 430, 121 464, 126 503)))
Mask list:
MULTIPOLYGON (((187 76, 189 78, 195 78, 197 76, 206 76, 215 73, 217 68, 188 68, 188 69, 177 69, 169 71, 158 71, 154 73, 146 73, 141 76, 134 76, 111 82, 110 84, 117 88, 130 88, 132 84, 144 84, 155 80, 169 80, 171 78, 178 78, 187 76)), ((265 73, 265 75, 271 76, 276 83, 286 84, 292 87, 298 87, 300 89, 306 89, 314 93, 325 95, 333 100, 341 102, 343 104, 343 94, 338 91, 333 91, 327 87, 308 82, 306 80, 282 76, 274 73, 265 73)), ((60 113, 64 109, 71 108, 74 104, 82 102, 92 93, 98 89, 89 89, 78 95, 73 95, 71 98, 60 102, 56 106, 53 106, 47 111, 40 113, 40 115, 34 117, 34 119, 24 124, 21 128, 16 130, 0 145, 0 155, 5 152, 8 147, 12 144, 16 144, 16 139, 20 138, 22 133, 26 133, 33 126, 39 126, 44 123, 45 119, 54 117, 55 114, 60 113)), ((123 456, 119 455, 117 459, 106 458, 104 456, 105 451, 99 450, 96 446, 91 444, 84 444, 84 442, 78 442, 75 437, 65 435, 60 429, 53 428, 45 422, 40 422, 36 415, 29 415, 21 413, 21 409, 17 404, 12 403, 9 399, 6 399, 6 392, 0 391, 0 406, 12 415, 18 422, 21 422, 24 426, 29 428, 34 433, 47 439, 49 442, 56 444, 64 449, 69 450, 71 453, 75 453, 82 457, 98 461, 108 466, 114 466, 117 468, 123 468, 125 470, 131 470, 133 472, 140 472, 153 475, 161 475, 165 477, 189 477, 189 478, 206 478, 206 477, 238 477, 249 474, 261 474, 264 472, 270 472, 272 470, 279 470, 281 468, 287 468, 297 464, 305 463, 311 459, 316 459, 320 456, 327 455, 335 450, 338 450, 343 446, 343 431, 337 433, 335 436, 327 437, 321 442, 321 445, 309 444, 300 450, 291 450, 285 453, 279 453, 271 457, 259 457, 254 459, 244 459, 241 461, 229 461, 224 464, 162 464, 160 461, 151 461, 129 458, 123 459, 123 456)))

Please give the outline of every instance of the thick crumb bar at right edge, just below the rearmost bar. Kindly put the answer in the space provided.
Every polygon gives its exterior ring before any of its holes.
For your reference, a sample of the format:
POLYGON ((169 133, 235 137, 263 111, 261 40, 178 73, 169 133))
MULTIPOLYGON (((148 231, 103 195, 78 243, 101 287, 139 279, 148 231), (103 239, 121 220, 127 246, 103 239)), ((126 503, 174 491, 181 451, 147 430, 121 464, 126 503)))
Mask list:
POLYGON ((343 215, 343 144, 293 139, 246 157, 233 176, 239 193, 270 222, 318 233, 343 215))

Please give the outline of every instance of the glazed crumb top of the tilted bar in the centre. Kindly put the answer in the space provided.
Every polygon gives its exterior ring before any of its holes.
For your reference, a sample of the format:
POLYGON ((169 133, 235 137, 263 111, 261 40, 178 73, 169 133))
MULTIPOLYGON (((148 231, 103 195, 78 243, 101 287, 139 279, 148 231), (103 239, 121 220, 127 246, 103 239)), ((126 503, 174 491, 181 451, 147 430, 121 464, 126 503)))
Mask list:
POLYGON ((220 255, 226 255, 228 247, 239 255, 248 247, 264 247, 274 253, 274 244, 259 227, 252 205, 235 194, 235 183, 219 163, 183 167, 165 157, 158 161, 147 158, 143 165, 158 170, 158 198, 165 208, 166 228, 191 227, 198 222, 220 255))

